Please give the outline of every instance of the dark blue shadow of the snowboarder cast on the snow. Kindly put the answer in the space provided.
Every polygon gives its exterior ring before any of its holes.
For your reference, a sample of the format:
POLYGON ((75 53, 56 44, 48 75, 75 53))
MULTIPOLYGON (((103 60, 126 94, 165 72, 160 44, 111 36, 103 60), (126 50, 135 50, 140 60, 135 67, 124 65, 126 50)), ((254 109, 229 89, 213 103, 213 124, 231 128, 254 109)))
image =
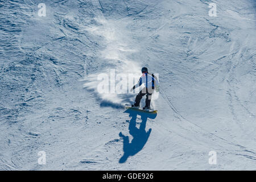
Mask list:
POLYGON ((131 143, 129 142, 129 137, 119 133, 119 136, 123 138, 123 156, 119 160, 119 163, 125 163, 129 156, 133 156, 142 150, 144 145, 146 144, 148 137, 150 136, 151 129, 146 131, 146 122, 147 118, 154 119, 156 114, 148 114, 142 113, 139 111, 126 110, 125 113, 129 113, 129 117, 131 117, 129 123, 129 133, 133 136, 131 143), (137 115, 141 115, 142 122, 139 128, 136 127, 136 119, 137 115))

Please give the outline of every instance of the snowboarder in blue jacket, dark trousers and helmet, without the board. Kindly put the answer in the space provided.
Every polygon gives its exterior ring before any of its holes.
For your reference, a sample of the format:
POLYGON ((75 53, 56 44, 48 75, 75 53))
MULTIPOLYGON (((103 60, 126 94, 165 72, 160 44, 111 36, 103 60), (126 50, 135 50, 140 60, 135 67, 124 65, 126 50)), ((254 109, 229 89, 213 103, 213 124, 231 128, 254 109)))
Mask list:
POLYGON ((158 85, 158 78, 155 77, 153 74, 148 73, 147 68, 143 67, 141 69, 142 76, 139 78, 139 81, 136 85, 131 88, 131 92, 137 88, 138 86, 141 86, 142 84, 145 85, 145 87, 139 92, 135 98, 135 103, 131 105, 131 107, 139 107, 139 103, 141 102, 141 99, 144 95, 146 95, 146 105, 143 107, 144 110, 150 109, 150 101, 151 96, 154 90, 156 89, 156 92, 159 92, 159 85, 158 85))

